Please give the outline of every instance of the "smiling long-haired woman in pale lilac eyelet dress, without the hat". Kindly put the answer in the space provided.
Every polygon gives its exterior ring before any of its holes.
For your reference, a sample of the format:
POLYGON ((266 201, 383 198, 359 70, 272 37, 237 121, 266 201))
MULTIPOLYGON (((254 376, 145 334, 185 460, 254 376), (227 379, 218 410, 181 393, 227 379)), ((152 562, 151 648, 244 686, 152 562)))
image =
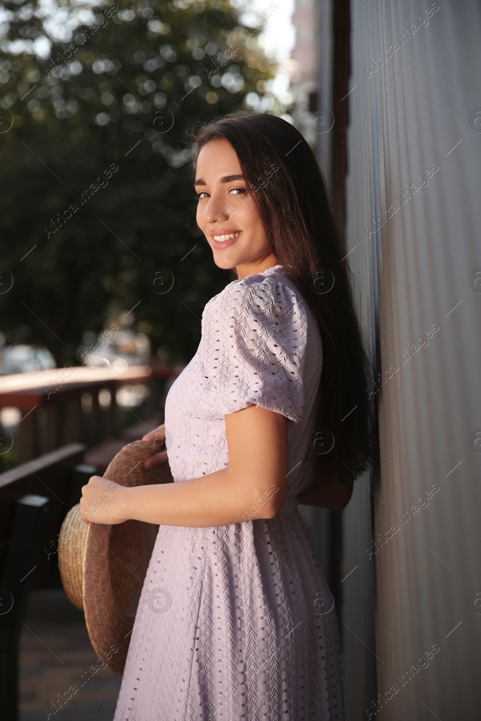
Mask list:
MULTIPOLYGON (((196 146, 198 226, 237 280, 144 437, 176 482, 118 487, 96 514, 160 524, 115 721, 341 720, 332 596, 296 509, 344 508, 369 459, 345 253, 292 125, 234 114, 196 146)), ((82 510, 106 485, 90 479, 82 510)))

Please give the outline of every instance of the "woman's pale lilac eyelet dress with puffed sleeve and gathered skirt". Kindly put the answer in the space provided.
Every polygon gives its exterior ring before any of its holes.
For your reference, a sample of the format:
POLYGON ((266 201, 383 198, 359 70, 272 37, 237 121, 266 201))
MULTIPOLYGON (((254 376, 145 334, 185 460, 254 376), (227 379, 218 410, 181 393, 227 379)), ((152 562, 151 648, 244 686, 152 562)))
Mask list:
POLYGON ((115 721, 343 720, 333 599, 296 500, 312 482, 321 368, 317 322, 281 266, 206 305, 165 407, 175 482, 226 467, 224 415, 256 404, 288 418, 288 492, 275 518, 160 526, 115 721))

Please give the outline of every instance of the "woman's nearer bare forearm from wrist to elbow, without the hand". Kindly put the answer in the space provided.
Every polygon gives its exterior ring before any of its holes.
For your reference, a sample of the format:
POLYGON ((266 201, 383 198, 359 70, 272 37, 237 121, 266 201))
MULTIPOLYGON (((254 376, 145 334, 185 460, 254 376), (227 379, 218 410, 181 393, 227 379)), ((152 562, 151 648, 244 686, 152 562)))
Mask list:
POLYGON ((242 482, 227 468, 193 480, 125 488, 119 502, 125 518, 206 528, 272 518, 279 508, 280 492, 277 483, 265 481, 259 482, 255 492, 252 479, 242 482))

